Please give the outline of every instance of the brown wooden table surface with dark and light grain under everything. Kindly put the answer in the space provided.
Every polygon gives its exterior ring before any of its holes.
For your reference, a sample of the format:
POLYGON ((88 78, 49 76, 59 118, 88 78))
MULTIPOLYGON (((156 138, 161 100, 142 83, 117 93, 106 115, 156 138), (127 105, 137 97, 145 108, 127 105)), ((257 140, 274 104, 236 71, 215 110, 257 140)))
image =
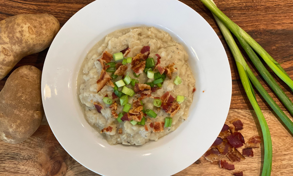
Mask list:
MULTIPOLYGON (((79 9, 89 4, 92 0, 1 0, 0 20, 22 13, 50 13, 60 22, 61 26, 79 9)), ((231 52, 223 40, 222 34, 216 25, 211 12, 203 6, 199 0, 181 0, 197 11, 216 31, 227 52, 232 74, 232 99, 229 115, 226 123, 235 117, 244 123, 241 131, 245 140, 259 134, 262 135, 257 117, 252 110, 248 98, 242 87, 236 64, 231 52)), ((215 3, 231 20, 250 34, 268 53, 279 63, 293 78, 293 1, 282 0, 215 0, 215 3)), ((110 13, 110 12, 109 12, 110 13)), ((146 11, 147 13, 147 11, 146 11)), ((48 49, 24 57, 14 68, 22 65, 34 65, 42 70, 48 49)), ((248 58, 244 54, 245 58, 248 58)), ((249 62, 251 66, 251 62, 249 62)), ((259 76, 255 67, 251 66, 259 81, 277 104, 287 112, 284 105, 279 101, 272 89, 259 76)), ((12 70, 12 71, 13 71, 12 70)), ((289 87, 282 82, 272 70, 268 68, 282 89, 292 100, 293 95, 289 87)), ((9 76, 9 75, 8 75, 9 76)), ((3 88, 6 76, 0 81, 0 90, 3 88)), ((293 138, 282 126, 280 119, 272 112, 272 109, 260 97, 256 91, 256 98, 267 120, 272 136, 273 161, 271 175, 293 175, 293 138)), ((208 124, 207 124, 207 130, 208 124)), ((235 164, 234 171, 243 171, 244 175, 258 176, 261 174, 263 162, 263 145, 254 149, 254 157, 235 164)), ((226 158, 229 160, 228 158, 226 158)), ((234 171, 220 169, 201 157, 185 170, 175 174, 181 175, 231 175, 234 171)), ((20 144, 7 144, 0 140, 0 175, 25 175, 25 176, 92 176, 98 175, 76 162, 58 143, 54 137, 46 118, 41 126, 29 139, 20 144)))

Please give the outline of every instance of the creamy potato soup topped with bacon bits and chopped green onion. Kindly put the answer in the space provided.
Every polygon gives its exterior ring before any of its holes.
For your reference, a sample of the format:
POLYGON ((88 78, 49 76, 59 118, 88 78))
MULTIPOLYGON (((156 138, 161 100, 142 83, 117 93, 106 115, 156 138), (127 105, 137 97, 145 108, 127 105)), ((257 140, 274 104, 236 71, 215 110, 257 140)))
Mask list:
POLYGON ((77 86, 86 121, 109 144, 142 145, 187 119, 195 79, 185 49, 168 33, 131 28, 88 52, 77 86))

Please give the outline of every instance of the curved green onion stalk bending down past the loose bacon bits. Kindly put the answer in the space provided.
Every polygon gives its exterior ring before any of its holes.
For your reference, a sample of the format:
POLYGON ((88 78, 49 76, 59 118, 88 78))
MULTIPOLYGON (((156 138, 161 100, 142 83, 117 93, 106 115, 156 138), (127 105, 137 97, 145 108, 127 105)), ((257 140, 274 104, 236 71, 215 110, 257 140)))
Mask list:
MULTIPOLYGON (((201 1, 206 2, 206 0, 201 0, 201 1)), ((209 1, 209 3, 212 3, 212 2, 209 1)), ((226 42, 227 42, 227 44, 233 54, 233 57, 236 61, 237 69, 238 69, 244 90, 246 92, 246 95, 247 95, 251 105, 253 106, 255 114, 258 117, 258 121, 260 122, 260 126, 261 126, 261 129, 263 132, 264 152, 265 152, 262 176, 269 176, 271 173, 271 169, 272 169, 272 139, 271 139, 268 124, 265 121, 265 117, 263 116, 263 113, 261 112, 260 107, 258 106, 258 103, 255 99, 254 94, 253 94, 252 86, 251 86, 250 81, 248 79, 248 77, 250 75, 250 72, 249 72, 250 68, 248 67, 247 63, 245 62, 239 48, 237 47, 237 45, 236 45, 236 43, 235 43, 235 41, 229 31, 229 29, 222 23, 222 21, 219 20, 219 18, 217 18, 217 16, 214 15, 214 17, 215 17, 223 35, 224 35, 224 38, 225 38, 225 40, 226 40, 226 42), (246 65, 247 65, 247 67, 246 67, 246 65)), ((250 75, 250 76, 252 76, 252 75, 250 75)))

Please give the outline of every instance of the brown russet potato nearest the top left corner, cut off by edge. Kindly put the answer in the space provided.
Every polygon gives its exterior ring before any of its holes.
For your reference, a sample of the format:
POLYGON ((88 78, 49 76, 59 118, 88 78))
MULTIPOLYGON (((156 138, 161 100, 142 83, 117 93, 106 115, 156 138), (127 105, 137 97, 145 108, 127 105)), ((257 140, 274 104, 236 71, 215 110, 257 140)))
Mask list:
POLYGON ((23 57, 48 48, 60 29, 49 14, 21 14, 0 21, 0 80, 23 57))

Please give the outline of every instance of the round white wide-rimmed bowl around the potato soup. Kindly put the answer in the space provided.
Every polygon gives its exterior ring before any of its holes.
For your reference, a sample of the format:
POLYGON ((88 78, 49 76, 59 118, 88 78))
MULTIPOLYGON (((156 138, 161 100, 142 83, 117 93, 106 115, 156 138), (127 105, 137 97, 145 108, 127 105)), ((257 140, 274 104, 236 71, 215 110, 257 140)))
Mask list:
POLYGON ((106 176, 166 176, 191 165, 221 131, 231 87, 229 62, 217 34, 197 12, 177 0, 88 4, 56 35, 42 73, 42 101, 57 140, 79 163, 106 176), (196 80, 190 116, 157 142, 109 145, 84 119, 76 93, 77 73, 87 52, 105 35, 139 26, 163 29, 185 46, 196 80))

